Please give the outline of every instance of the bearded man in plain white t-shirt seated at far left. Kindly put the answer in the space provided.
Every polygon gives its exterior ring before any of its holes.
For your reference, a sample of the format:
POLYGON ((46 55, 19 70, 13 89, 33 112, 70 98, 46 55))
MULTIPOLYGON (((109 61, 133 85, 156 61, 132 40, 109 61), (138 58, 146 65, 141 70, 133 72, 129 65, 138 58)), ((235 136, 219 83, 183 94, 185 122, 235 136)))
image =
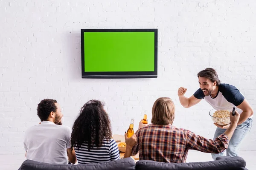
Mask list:
POLYGON ((38 104, 41 124, 25 132, 26 159, 49 164, 76 163, 76 153, 71 151, 71 129, 62 126, 61 107, 56 100, 44 99, 38 104))

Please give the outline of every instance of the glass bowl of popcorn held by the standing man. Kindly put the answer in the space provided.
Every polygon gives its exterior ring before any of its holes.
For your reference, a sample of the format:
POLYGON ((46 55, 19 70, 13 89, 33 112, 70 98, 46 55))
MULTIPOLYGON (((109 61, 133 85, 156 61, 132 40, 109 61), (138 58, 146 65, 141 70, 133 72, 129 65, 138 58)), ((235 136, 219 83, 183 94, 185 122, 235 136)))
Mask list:
POLYGON ((218 125, 228 125, 230 124, 230 111, 227 110, 215 110, 212 109, 209 111, 209 115, 211 116, 214 123, 218 125))

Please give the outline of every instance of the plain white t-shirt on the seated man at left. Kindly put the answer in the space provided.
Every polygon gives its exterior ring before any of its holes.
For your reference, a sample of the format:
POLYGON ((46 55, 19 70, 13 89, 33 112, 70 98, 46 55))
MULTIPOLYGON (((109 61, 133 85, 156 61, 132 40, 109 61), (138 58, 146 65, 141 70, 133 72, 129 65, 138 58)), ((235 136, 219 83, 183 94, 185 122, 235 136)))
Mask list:
POLYGON ((49 164, 67 164, 67 149, 71 147, 71 129, 43 121, 25 132, 26 159, 49 164))

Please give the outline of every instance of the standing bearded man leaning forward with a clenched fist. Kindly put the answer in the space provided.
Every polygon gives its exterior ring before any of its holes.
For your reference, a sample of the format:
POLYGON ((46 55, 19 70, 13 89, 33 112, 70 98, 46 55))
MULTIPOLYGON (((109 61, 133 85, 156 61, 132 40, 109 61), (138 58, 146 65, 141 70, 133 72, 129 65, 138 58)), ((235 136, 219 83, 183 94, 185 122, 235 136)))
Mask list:
MULTIPOLYGON (((237 124, 233 137, 229 141, 229 146, 226 150, 227 156, 237 156, 239 144, 250 131, 252 127, 253 109, 240 91, 233 85, 221 83, 218 74, 213 68, 206 68, 198 74, 198 82, 200 88, 189 98, 185 97, 187 89, 180 87, 178 96, 180 104, 184 108, 190 108, 198 104, 202 99, 205 99, 215 110, 232 111, 236 108, 236 114, 240 114, 240 119, 237 124)), ((230 125, 217 125, 214 134, 214 139, 224 133, 230 125)), ((224 153, 212 154, 215 160, 219 156, 224 156, 224 153)))

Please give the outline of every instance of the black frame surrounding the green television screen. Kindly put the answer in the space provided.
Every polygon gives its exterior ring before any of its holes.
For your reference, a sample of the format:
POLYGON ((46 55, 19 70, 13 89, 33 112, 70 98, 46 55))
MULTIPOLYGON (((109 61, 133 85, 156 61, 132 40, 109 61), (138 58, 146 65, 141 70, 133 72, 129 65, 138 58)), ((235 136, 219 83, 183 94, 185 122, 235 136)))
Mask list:
POLYGON ((81 65, 82 78, 89 79, 123 79, 123 78, 157 78, 157 28, 156 29, 81 29, 81 65), (84 71, 84 32, 154 32, 154 71, 84 71))

